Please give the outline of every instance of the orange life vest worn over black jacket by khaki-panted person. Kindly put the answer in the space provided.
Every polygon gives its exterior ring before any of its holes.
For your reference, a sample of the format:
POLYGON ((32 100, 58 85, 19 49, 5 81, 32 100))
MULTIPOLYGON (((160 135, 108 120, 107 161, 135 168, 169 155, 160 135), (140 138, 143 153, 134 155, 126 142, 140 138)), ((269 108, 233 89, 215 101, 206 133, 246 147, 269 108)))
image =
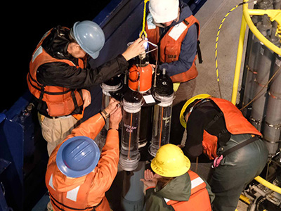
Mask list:
MULTIPOLYGON (((42 42, 51 30, 48 31, 41 39, 32 54, 30 60, 30 72, 27 74, 27 85, 30 92, 39 100, 46 102, 48 107, 48 115, 51 117, 60 117, 64 115, 70 115, 75 108, 79 108, 83 105, 83 99, 76 89, 68 89, 65 87, 44 86, 37 82, 37 69, 44 63, 67 63, 70 66, 76 66, 77 68, 84 68, 84 60, 79 59, 79 65, 74 65, 71 60, 57 59, 50 56, 41 46, 42 42)), ((77 119, 81 118, 81 115, 74 115, 77 119)))

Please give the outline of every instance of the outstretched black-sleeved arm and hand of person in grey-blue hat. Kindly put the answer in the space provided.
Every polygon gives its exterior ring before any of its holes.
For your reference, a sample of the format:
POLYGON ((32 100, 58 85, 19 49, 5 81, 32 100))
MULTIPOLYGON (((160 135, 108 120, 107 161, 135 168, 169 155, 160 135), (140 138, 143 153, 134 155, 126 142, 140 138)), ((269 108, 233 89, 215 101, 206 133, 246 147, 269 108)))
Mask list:
POLYGON ((69 89, 84 89, 101 84, 115 77, 129 67, 128 60, 145 51, 141 38, 116 58, 107 61, 98 68, 82 69, 72 67, 66 63, 46 63, 37 70, 37 80, 40 84, 65 87, 69 89))

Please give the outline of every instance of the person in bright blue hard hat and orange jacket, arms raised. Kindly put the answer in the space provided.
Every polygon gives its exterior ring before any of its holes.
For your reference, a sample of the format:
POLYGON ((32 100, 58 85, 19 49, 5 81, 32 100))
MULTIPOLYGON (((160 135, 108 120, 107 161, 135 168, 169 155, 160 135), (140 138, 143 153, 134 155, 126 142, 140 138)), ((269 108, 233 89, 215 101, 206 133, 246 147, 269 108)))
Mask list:
POLYGON ((117 174, 119 162, 119 101, 110 100, 105 111, 82 122, 51 153, 46 170, 50 196, 48 210, 110 210, 105 192, 117 174), (109 127, 105 146, 100 149, 93 139, 105 125, 109 127))

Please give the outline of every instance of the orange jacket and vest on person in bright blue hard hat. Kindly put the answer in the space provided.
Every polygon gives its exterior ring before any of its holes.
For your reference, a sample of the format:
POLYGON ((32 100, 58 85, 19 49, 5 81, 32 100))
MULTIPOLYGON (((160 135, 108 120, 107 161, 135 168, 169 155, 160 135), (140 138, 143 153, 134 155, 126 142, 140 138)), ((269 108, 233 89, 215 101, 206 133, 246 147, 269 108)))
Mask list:
MULTIPOLYGON (((95 139, 104 127, 105 121, 99 113, 82 122, 72 130, 63 143, 74 136, 87 136, 95 139)), ((56 156, 60 143, 48 159, 45 184, 51 199, 53 211, 110 211, 110 205, 105 197, 105 191, 110 188, 117 173, 119 160, 118 132, 109 130, 101 158, 95 170, 83 177, 66 177, 56 164, 56 156), (116 172, 116 173, 115 173, 116 172)))

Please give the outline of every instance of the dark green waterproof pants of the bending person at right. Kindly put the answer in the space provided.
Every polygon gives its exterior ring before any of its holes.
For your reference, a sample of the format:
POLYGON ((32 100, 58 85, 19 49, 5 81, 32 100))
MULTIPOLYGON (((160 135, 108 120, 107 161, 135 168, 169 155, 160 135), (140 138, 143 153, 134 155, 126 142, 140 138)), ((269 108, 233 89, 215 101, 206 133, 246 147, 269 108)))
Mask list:
MULTIPOLYGON (((249 134, 232 135, 224 151, 249 138, 249 134)), ((211 191, 216 195, 213 210, 234 211, 241 192, 254 177, 261 174, 267 159, 268 150, 261 139, 226 155, 214 169, 211 178, 211 191)))

